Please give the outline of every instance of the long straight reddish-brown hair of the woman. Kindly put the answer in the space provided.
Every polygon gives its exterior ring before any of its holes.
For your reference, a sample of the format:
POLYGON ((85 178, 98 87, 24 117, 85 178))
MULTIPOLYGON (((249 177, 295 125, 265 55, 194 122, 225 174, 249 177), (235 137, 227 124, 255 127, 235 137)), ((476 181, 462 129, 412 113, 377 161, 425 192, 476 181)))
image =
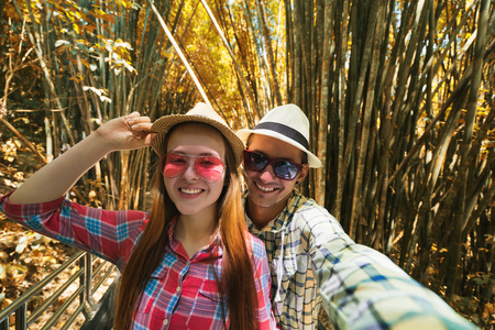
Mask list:
MULTIPOLYGON (((170 133, 172 131, 168 132, 168 136, 170 133)), ((240 174, 233 165, 235 161, 230 144, 226 139, 223 143, 227 146, 226 183, 217 201, 217 227, 220 231, 223 258, 222 271, 217 282, 222 301, 226 300, 224 298, 228 301, 230 329, 258 329, 256 286, 252 260, 245 243, 240 174)), ((178 213, 165 189, 160 166, 156 166, 154 185, 156 195, 148 222, 123 270, 113 327, 116 330, 132 328, 134 311, 139 307, 146 283, 165 255, 168 245, 167 229, 172 219, 178 213)), ((222 307, 224 310, 226 306, 222 307)))

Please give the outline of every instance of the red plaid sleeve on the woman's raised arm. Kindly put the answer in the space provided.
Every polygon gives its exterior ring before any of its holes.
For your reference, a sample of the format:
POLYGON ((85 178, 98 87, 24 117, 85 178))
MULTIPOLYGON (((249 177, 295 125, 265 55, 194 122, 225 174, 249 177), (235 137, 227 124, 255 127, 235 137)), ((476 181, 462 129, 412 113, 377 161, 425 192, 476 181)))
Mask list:
POLYGON ((118 265, 130 255, 147 216, 85 207, 65 198, 16 205, 9 196, 0 198, 0 211, 9 219, 118 265))

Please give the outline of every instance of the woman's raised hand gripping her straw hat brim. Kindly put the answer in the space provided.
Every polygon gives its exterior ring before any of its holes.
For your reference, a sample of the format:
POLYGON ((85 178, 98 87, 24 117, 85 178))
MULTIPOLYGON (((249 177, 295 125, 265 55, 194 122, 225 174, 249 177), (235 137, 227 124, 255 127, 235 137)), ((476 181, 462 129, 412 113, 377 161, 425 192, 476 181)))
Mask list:
POLYGON ((132 112, 106 122, 96 133, 111 150, 132 150, 151 144, 151 125, 148 117, 132 112))

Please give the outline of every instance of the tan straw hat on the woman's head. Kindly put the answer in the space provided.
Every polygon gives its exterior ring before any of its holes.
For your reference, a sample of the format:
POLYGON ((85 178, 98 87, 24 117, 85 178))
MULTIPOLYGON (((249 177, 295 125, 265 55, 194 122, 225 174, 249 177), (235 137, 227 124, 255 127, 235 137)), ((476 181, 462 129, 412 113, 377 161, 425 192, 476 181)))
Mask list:
POLYGON ((184 122, 201 122, 217 129, 232 147, 235 155, 235 167, 241 164, 244 144, 227 125, 227 122, 210 106, 202 102, 197 103, 186 114, 164 116, 153 123, 151 132, 157 135, 153 139, 151 146, 160 157, 166 152, 165 138, 168 132, 175 125, 184 122))

